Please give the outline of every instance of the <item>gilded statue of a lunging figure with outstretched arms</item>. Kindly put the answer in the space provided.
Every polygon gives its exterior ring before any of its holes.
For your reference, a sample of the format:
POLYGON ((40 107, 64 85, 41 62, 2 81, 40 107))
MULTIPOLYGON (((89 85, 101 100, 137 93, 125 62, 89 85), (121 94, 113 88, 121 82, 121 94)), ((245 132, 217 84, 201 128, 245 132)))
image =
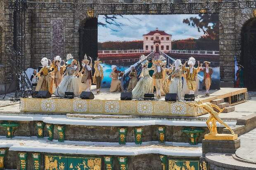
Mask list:
POLYGON ((201 101, 198 101, 197 103, 193 103, 193 104, 191 103, 189 105, 200 107, 200 108, 204 109, 207 113, 210 114, 210 116, 206 120, 207 127, 210 130, 210 133, 208 133, 207 135, 217 135, 218 134, 216 121, 218 121, 220 124, 225 126, 228 130, 230 130, 232 135, 235 134, 234 131, 230 128, 230 126, 228 126, 227 123, 225 123, 223 120, 221 120, 220 116, 218 115, 225 108, 220 109, 220 107, 218 107, 217 105, 214 105, 213 103, 210 103, 210 102, 202 103, 201 101), (218 110, 218 112, 216 112, 213 108, 216 108, 218 110))

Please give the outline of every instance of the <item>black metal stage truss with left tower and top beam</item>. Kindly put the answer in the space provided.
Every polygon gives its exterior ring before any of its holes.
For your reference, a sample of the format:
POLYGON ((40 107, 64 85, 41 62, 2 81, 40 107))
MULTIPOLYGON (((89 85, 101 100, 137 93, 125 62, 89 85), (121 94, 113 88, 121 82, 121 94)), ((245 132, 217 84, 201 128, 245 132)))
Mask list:
MULTIPOLYGON (((27 9, 46 10, 90 10, 95 14, 198 14, 219 13, 221 9, 256 8, 254 1, 195 2, 195 3, 65 3, 65 2, 29 2, 15 0, 9 7, 14 10, 14 52, 7 55, 15 61, 17 90, 15 99, 27 97, 31 93, 31 84, 25 73, 26 35, 25 19, 27 9)), ((93 14, 92 13, 92 14, 93 14)), ((8 51, 8 50, 7 50, 8 51)))

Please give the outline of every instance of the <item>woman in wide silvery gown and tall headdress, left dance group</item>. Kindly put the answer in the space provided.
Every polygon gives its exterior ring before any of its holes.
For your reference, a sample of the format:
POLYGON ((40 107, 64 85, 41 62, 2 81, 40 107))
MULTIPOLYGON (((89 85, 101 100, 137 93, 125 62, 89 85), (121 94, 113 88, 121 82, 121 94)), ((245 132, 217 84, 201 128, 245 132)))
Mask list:
POLYGON ((59 86, 55 90, 55 95, 64 97, 65 92, 73 92, 74 96, 79 96, 79 80, 75 75, 78 75, 80 70, 80 64, 78 61, 73 59, 71 54, 66 55, 66 71, 64 77, 60 82, 59 86), (77 63, 77 65, 76 65, 77 63))

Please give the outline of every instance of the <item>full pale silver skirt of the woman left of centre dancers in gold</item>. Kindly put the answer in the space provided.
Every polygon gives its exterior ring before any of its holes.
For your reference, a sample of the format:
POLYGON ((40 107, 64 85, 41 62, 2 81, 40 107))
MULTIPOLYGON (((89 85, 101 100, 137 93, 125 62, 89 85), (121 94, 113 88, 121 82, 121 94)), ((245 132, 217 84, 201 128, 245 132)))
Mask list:
POLYGON ((140 99, 144 97, 144 94, 153 93, 153 87, 153 78, 150 75, 141 77, 132 91, 133 98, 140 99))

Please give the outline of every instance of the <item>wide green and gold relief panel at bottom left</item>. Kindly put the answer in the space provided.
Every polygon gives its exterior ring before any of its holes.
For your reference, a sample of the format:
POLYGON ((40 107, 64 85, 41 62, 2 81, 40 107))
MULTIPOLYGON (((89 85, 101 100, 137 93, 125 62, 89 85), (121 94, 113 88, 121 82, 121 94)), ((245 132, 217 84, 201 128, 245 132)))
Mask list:
POLYGON ((45 156, 45 170, 103 170, 102 158, 45 156))

